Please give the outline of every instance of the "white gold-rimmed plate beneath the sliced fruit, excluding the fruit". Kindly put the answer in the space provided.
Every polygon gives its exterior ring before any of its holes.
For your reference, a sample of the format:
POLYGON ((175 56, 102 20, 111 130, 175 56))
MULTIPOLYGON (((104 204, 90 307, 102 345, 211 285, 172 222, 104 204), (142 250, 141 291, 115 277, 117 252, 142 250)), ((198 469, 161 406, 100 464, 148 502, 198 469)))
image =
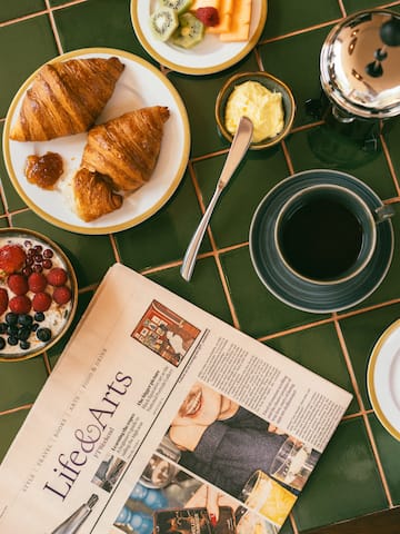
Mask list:
POLYGON ((267 0, 252 0, 247 41, 223 42, 217 34, 206 33, 200 43, 191 49, 184 49, 162 42, 152 34, 149 21, 157 3, 158 0, 131 0, 133 30, 153 59, 169 69, 186 75, 210 75, 236 65, 254 48, 267 20, 267 0))

